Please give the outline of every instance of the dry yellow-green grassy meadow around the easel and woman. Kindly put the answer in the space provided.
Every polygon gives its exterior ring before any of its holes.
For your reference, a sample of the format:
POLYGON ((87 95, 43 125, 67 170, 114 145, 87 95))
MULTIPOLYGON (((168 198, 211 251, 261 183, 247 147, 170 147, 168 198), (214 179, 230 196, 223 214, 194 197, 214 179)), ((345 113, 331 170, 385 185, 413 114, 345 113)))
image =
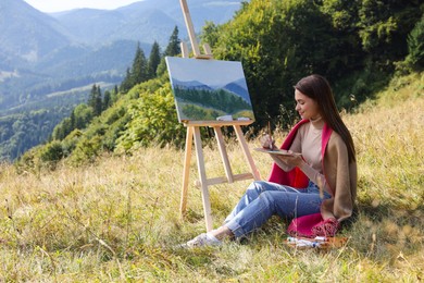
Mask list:
MULTIPOLYGON (((178 214, 184 150, 140 149, 85 168, 16 174, 0 169, 0 281, 417 282, 424 276, 424 75, 392 82, 358 113, 345 114, 359 162, 360 212, 328 251, 286 247, 286 224, 272 219, 247 243, 176 247, 204 231, 200 190, 189 187, 178 214)), ((282 142, 285 133, 277 133, 282 142)), ((258 140, 249 143, 251 148, 258 140)), ((234 142, 235 173, 247 171, 234 142)), ((252 151, 263 179, 271 159, 252 151)), ((205 147, 208 176, 224 175, 205 147)), ((197 177, 192 159, 190 181, 197 177)), ((210 187, 214 224, 250 181, 210 187)), ((192 182, 190 182, 192 183, 192 182)))

